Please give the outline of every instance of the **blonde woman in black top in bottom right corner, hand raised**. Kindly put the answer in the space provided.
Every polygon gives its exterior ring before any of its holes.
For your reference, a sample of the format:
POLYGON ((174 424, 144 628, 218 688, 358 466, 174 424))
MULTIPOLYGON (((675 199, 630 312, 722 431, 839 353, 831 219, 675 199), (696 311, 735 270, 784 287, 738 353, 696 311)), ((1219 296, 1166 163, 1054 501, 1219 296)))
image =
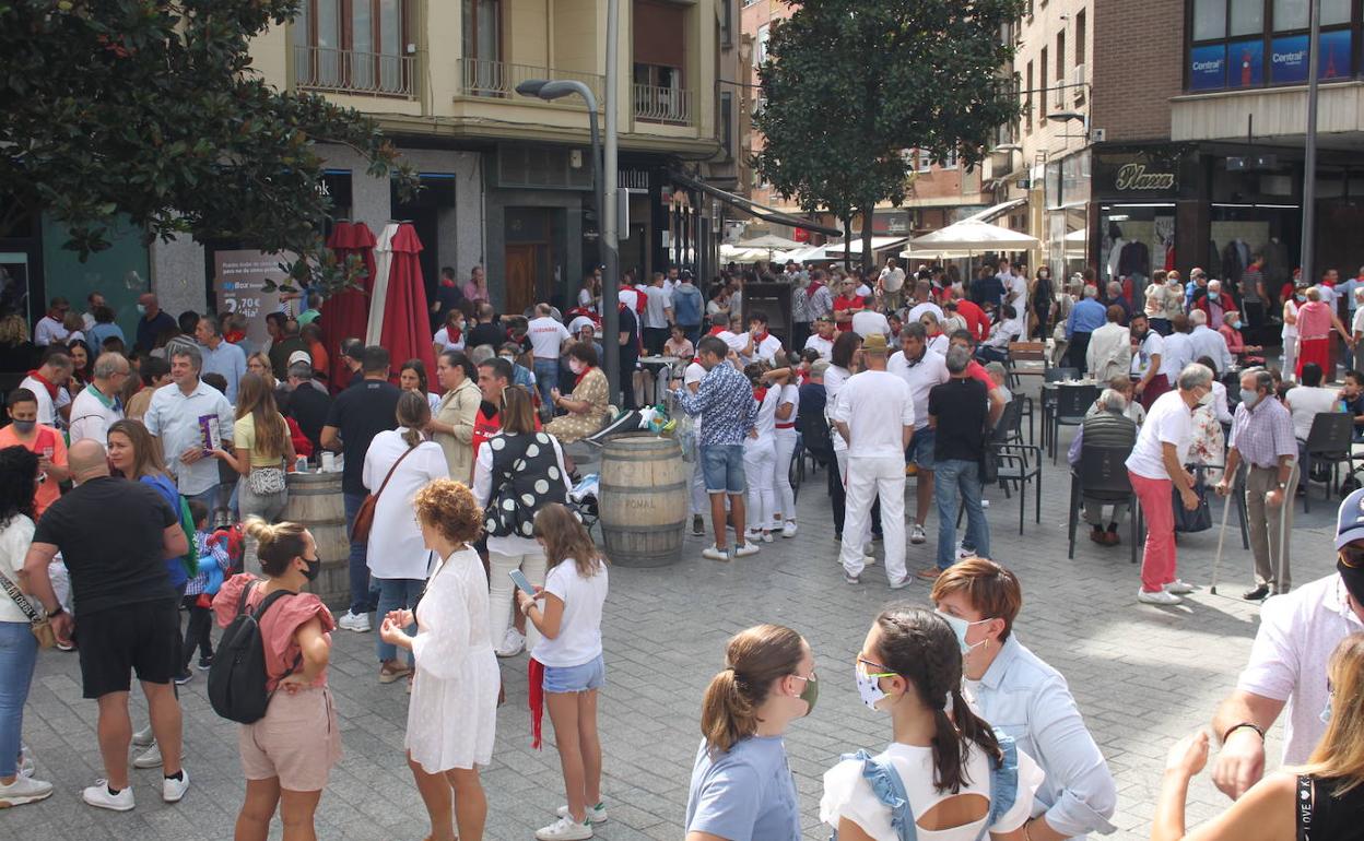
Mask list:
POLYGON ((1307 765, 1267 774, 1221 815, 1187 831, 1189 780, 1207 763, 1207 733, 1170 750, 1151 822, 1151 841, 1293 841, 1357 838, 1364 826, 1364 634, 1335 646, 1324 679, 1326 735, 1307 765))

